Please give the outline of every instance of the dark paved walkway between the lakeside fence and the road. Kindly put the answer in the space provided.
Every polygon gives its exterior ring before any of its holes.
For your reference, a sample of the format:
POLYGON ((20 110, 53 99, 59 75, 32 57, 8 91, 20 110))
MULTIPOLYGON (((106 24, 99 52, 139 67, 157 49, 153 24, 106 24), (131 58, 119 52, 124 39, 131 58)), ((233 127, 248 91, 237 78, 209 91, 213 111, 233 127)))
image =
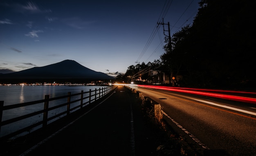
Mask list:
POLYGON ((26 156, 155 156, 157 134, 135 95, 124 86, 70 126, 39 142, 26 156))

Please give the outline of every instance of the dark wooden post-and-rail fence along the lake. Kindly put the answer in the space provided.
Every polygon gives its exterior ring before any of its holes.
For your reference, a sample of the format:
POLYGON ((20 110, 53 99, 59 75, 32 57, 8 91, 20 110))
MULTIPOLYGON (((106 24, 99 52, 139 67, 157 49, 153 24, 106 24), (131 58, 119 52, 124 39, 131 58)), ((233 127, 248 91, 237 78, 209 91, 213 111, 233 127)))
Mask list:
POLYGON ((14 132, 11 132, 9 134, 1 136, 0 139, 2 140, 2 139, 12 138, 12 137, 20 135, 26 131, 31 131, 31 129, 34 129, 35 127, 38 127, 38 126, 41 126, 40 128, 44 128, 47 126, 47 124, 50 121, 58 120, 59 118, 62 118, 64 116, 69 116, 70 113, 73 113, 79 109, 82 109, 84 106, 90 105, 92 102, 98 100, 99 98, 102 98, 103 96, 108 94, 112 89, 113 89, 113 87, 108 86, 108 87, 102 87, 99 89, 96 88, 95 90, 90 89, 90 91, 86 91, 86 92, 83 92, 83 90, 82 90, 81 93, 76 93, 76 94, 71 94, 71 92, 68 92, 68 94, 66 96, 59 96, 59 97, 55 97, 55 98, 49 98, 49 95, 45 95, 45 99, 43 99, 43 100, 36 100, 36 101, 27 102, 27 103, 19 103, 19 104, 15 104, 15 105, 7 105, 7 106, 4 106, 4 101, 0 101, 0 133, 1 133, 1 127, 4 125, 13 124, 20 120, 24 120, 27 118, 31 118, 33 116, 38 116, 40 114, 43 114, 43 119, 41 121, 38 121, 38 122, 31 124, 27 127, 18 129, 14 132), (71 100, 72 99, 71 97, 79 96, 79 95, 80 95, 79 99, 71 100), (88 95, 88 96, 84 97, 84 95, 88 95), (50 101, 65 99, 65 98, 67 99, 67 103, 62 103, 59 105, 49 107, 50 101), (87 99, 86 102, 84 102, 85 99, 87 99), (77 103, 79 101, 80 101, 80 105, 71 107, 73 103, 77 103), (36 105, 36 104, 40 104, 40 103, 44 103, 44 107, 41 110, 37 110, 37 111, 34 111, 29 114, 25 114, 22 116, 18 116, 18 117, 14 117, 14 118, 2 121, 3 112, 6 110, 36 105), (65 107, 65 106, 66 106, 65 111, 62 111, 62 112, 55 114, 54 116, 51 116, 51 117, 48 116, 49 111, 57 110, 57 109, 60 109, 61 107, 65 107))

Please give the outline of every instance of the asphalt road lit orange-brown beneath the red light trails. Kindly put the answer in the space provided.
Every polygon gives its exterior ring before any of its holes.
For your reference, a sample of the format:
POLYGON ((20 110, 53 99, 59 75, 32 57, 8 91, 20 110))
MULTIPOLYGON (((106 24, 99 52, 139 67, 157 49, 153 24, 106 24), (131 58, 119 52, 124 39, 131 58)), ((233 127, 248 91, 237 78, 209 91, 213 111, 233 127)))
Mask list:
POLYGON ((222 107, 256 111, 256 105, 135 87, 160 103, 164 119, 191 147, 218 155, 256 156, 256 116, 222 107), (218 104, 213 105, 213 104, 218 104), (249 107, 248 107, 249 106, 249 107))

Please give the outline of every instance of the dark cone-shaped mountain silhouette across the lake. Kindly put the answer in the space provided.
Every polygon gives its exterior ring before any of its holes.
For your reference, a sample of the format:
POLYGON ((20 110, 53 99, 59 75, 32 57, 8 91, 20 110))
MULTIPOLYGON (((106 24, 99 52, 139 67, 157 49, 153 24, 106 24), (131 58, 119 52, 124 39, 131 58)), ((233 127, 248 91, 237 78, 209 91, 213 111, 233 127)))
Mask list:
POLYGON ((63 60, 52 65, 34 67, 0 76, 4 79, 115 79, 102 72, 84 67, 74 60, 63 60))

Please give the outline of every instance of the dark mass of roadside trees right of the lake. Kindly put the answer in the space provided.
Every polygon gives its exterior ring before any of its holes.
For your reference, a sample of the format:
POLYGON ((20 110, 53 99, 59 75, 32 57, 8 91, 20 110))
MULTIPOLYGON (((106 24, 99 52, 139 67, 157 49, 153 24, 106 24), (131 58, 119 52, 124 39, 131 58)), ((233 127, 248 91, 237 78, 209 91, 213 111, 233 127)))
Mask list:
POLYGON ((255 3, 201 0, 193 24, 165 40, 160 60, 130 65, 117 81, 143 84, 148 71, 157 70, 169 76, 182 75, 180 85, 186 87, 255 89, 255 3))

